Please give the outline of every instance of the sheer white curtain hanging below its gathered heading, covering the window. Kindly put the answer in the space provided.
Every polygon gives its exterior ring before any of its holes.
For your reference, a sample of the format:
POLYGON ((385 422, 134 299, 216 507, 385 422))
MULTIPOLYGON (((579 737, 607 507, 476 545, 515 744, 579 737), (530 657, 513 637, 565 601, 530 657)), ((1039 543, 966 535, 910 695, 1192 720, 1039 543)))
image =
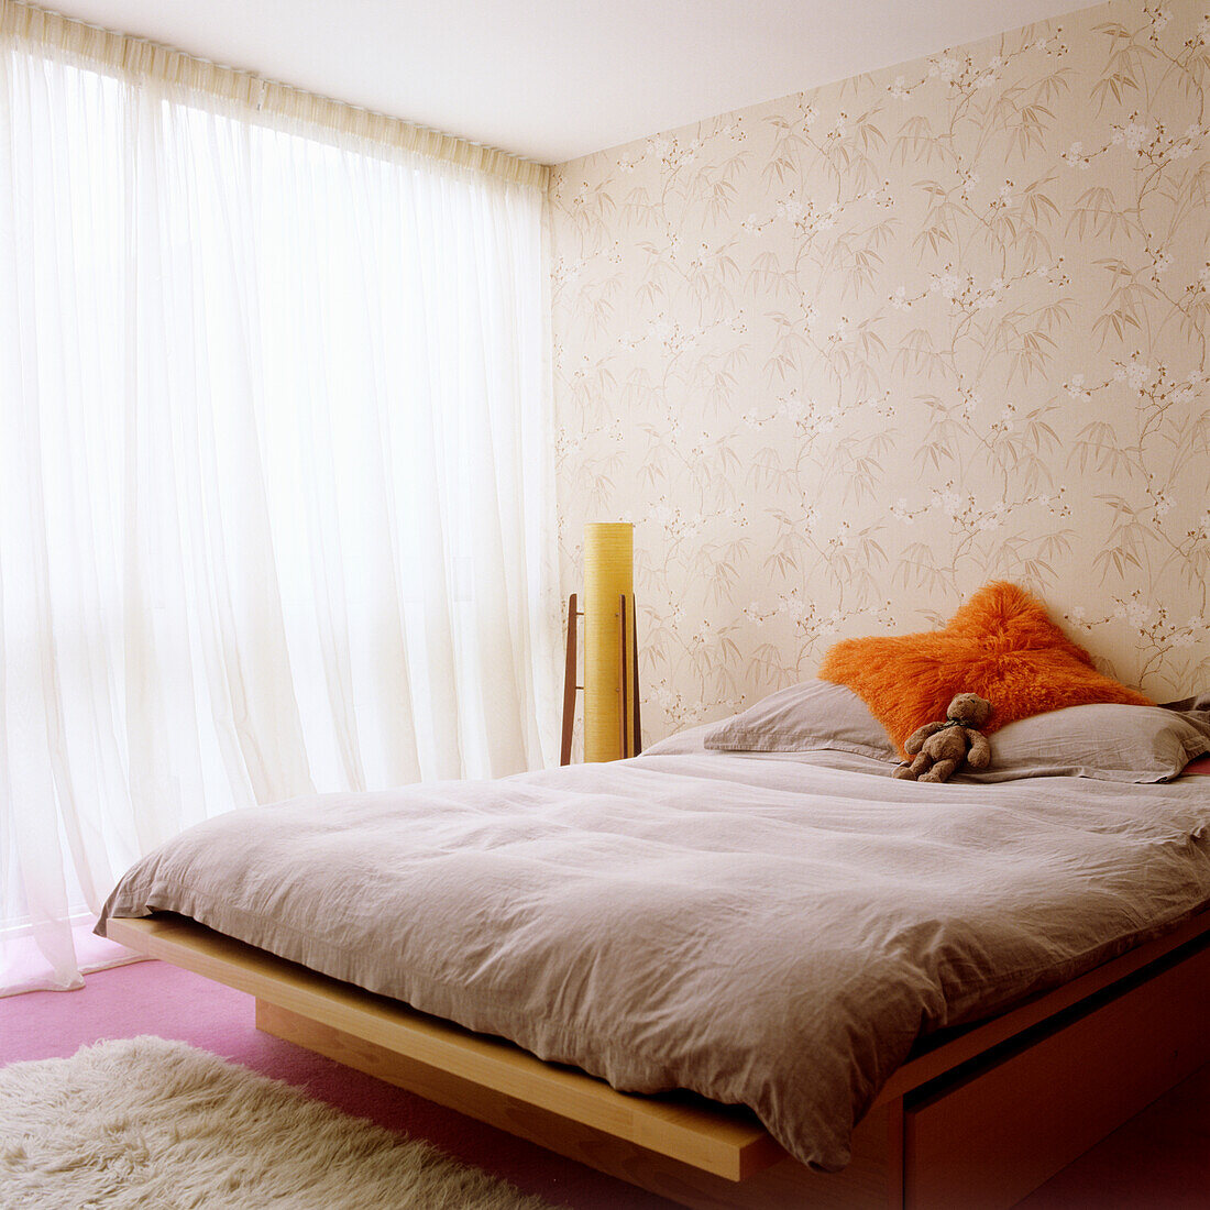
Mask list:
POLYGON ((2 71, 0 934, 67 987, 70 920, 191 823, 552 755, 542 196, 2 71))

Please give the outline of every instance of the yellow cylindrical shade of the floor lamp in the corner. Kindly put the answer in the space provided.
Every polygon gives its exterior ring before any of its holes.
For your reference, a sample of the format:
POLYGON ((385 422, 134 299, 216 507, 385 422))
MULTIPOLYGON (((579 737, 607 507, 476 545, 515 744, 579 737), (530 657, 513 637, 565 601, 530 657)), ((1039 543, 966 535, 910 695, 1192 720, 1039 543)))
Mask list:
POLYGON ((584 526, 584 760, 634 751, 634 526, 584 526), (626 599, 623 641, 621 600, 626 599))

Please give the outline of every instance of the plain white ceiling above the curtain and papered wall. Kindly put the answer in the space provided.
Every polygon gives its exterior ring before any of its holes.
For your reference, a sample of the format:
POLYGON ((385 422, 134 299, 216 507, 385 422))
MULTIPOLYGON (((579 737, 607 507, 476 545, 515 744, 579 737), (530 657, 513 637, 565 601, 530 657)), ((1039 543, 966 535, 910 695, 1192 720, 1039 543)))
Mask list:
POLYGON ((1087 0, 42 0, 544 163, 1087 0))

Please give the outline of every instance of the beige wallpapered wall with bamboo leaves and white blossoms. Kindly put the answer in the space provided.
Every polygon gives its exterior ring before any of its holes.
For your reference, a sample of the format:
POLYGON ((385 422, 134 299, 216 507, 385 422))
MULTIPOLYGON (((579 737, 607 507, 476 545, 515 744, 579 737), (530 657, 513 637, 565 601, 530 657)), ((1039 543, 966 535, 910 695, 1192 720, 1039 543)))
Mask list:
POLYGON ((555 169, 560 541, 636 524, 647 742, 1038 592, 1210 685, 1210 6, 1134 0, 555 169))

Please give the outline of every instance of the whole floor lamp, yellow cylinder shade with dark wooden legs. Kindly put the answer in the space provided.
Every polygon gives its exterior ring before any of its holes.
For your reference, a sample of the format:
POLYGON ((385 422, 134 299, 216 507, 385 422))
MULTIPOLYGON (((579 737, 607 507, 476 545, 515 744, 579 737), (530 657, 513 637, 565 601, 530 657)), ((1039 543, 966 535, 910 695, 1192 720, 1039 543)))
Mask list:
POLYGON ((560 765, 571 764, 576 690, 584 691, 584 760, 623 760, 643 750, 639 647, 634 617, 634 526, 584 526, 584 601, 567 600, 560 765), (584 620, 584 684, 576 684, 580 618, 584 620))

